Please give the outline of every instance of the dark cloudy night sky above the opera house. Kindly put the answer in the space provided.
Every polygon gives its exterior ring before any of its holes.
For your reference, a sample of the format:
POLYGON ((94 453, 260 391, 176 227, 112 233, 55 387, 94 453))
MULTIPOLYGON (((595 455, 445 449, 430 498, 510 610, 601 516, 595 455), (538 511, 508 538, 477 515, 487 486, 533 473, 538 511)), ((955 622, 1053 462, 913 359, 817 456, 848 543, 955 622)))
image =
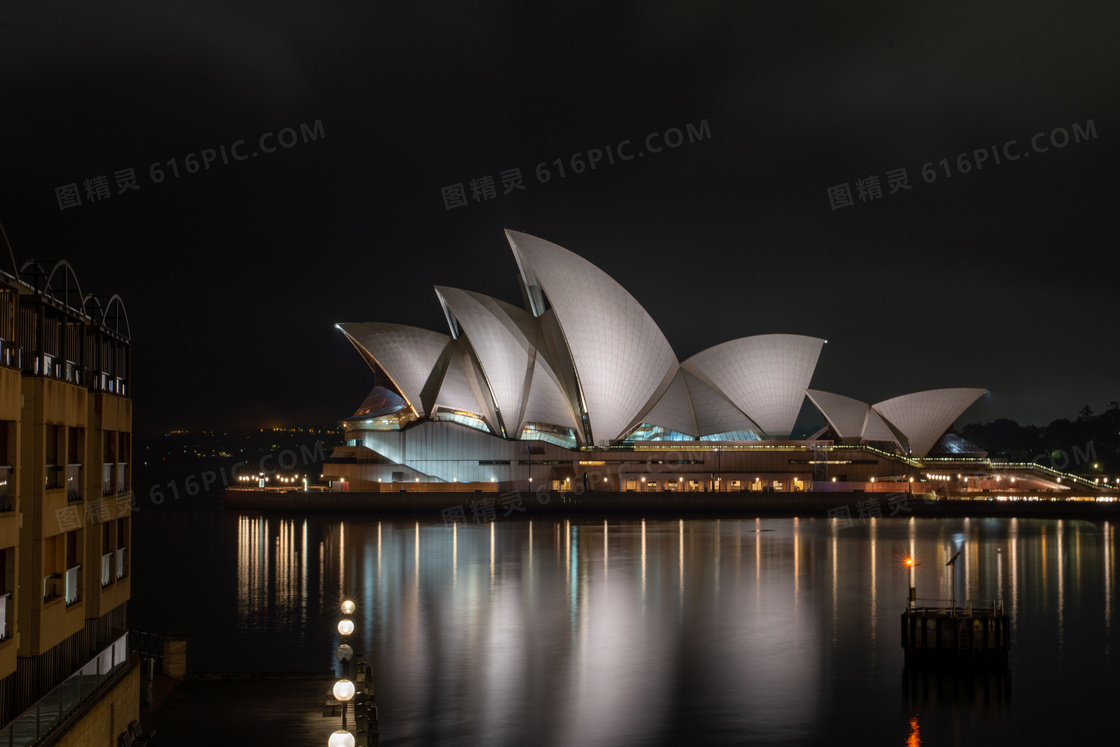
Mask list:
POLYGON ((793 333, 829 340, 816 389, 990 390, 962 422, 1120 400, 1120 7, 692 6, 8 3, 0 223, 123 297, 141 433, 349 415, 372 375, 333 325, 446 332, 436 284, 520 304, 506 227, 618 280, 682 361, 793 333))

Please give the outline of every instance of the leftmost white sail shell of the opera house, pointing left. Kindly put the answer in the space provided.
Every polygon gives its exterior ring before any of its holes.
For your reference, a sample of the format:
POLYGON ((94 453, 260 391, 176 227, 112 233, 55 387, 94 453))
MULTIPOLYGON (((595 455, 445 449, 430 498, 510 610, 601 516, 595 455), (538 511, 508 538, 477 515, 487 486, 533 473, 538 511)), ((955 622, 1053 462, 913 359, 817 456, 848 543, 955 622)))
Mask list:
POLYGON ((417 414, 424 415, 421 392, 451 338, 430 329, 382 321, 337 326, 366 363, 380 366, 417 414))

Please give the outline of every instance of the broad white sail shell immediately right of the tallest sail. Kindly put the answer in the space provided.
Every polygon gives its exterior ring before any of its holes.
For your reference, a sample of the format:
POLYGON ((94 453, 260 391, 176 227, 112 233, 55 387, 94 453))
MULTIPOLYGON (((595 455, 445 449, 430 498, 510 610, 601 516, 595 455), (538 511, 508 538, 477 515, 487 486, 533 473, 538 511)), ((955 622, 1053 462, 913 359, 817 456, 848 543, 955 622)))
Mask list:
POLYGON ((682 363, 716 387, 771 438, 785 438, 801 412, 824 340, 756 335, 709 347, 682 363))

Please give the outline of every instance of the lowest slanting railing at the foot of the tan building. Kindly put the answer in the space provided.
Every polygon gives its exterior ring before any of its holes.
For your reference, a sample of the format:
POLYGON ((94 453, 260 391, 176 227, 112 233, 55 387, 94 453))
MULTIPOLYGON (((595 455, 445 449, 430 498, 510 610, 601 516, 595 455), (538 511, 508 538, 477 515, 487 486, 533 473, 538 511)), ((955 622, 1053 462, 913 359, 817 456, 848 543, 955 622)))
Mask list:
POLYGON ((97 688, 127 666, 128 651, 129 635, 125 633, 0 730, 0 747, 38 744, 97 688))

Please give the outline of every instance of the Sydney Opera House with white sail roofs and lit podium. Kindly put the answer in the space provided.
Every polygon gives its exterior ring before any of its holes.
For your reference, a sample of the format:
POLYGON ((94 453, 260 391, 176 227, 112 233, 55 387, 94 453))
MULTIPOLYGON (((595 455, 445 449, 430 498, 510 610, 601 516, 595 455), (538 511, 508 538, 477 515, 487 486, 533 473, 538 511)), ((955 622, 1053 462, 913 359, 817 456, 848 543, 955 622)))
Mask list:
MULTIPOLYGON (((374 386, 342 421, 346 446, 324 474, 334 489, 889 492, 1016 479, 949 432, 983 389, 874 404, 811 389, 825 340, 794 334, 679 361, 601 270, 548 241, 506 237, 522 306, 437 287, 447 332, 338 325, 374 386), (806 401, 827 426, 795 439, 806 401)), ((1018 474, 1020 486, 1062 489, 1036 473, 1018 474)))

